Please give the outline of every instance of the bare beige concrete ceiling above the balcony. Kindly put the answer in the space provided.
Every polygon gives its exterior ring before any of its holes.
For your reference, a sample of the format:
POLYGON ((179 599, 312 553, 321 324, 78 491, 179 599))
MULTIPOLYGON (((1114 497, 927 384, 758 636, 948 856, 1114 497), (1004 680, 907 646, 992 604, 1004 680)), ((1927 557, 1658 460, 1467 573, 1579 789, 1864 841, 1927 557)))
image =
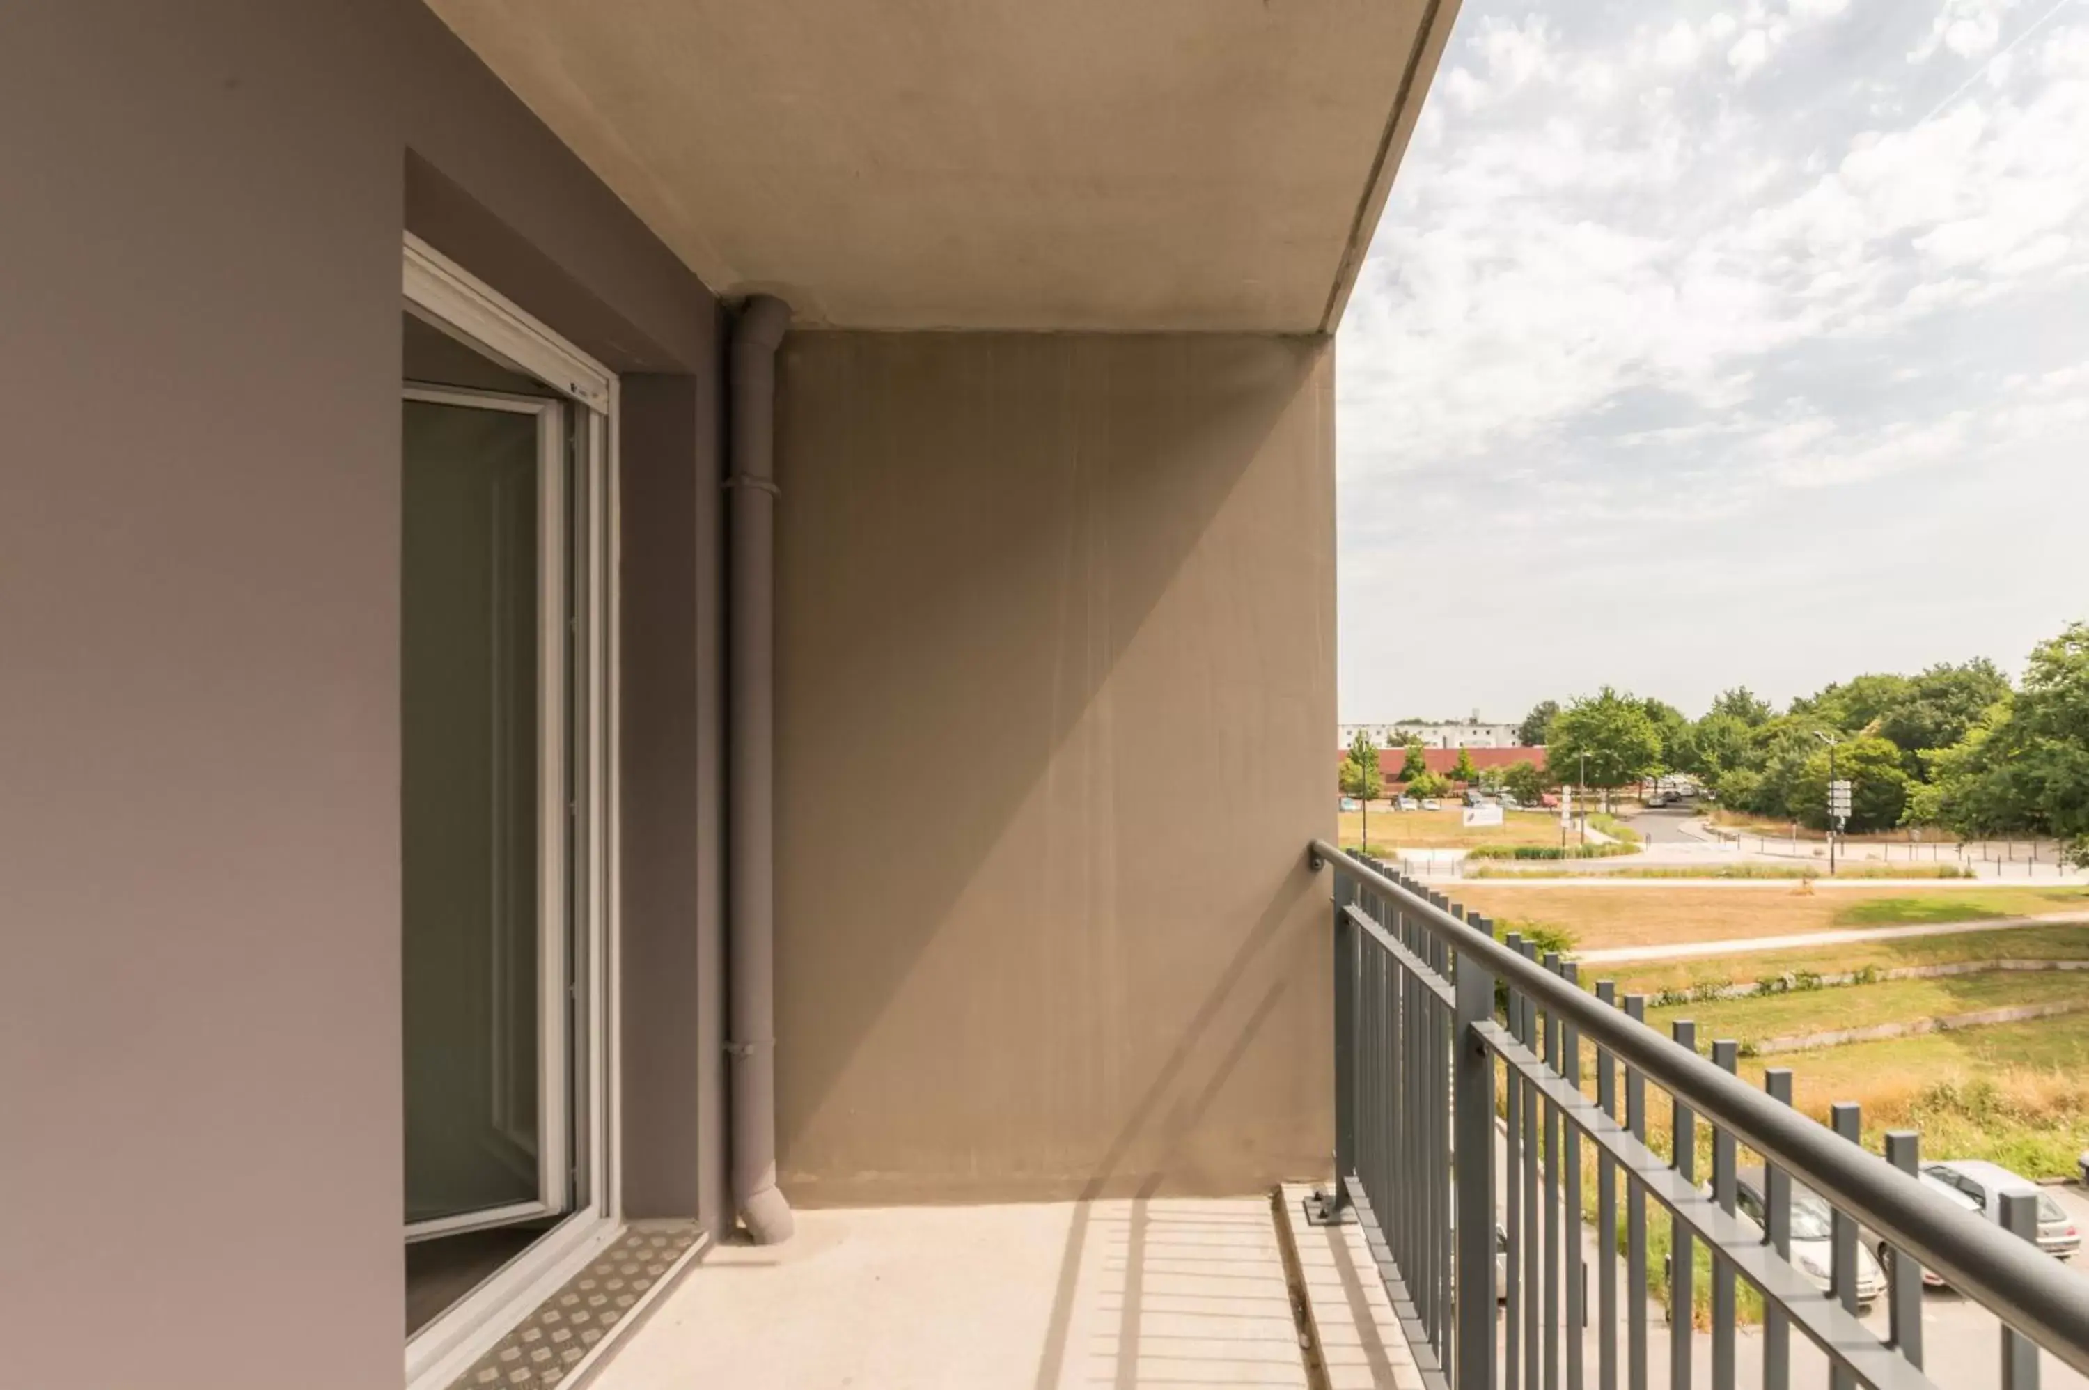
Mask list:
POLYGON ((428 0, 706 284, 1331 330, 1456 0, 428 0))

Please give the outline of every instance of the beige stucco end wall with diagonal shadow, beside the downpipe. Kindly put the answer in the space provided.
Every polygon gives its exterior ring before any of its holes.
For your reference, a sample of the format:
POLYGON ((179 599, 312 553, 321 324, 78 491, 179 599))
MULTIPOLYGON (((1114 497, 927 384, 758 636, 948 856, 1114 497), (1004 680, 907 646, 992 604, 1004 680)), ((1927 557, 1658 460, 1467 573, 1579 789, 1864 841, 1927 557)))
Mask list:
POLYGON ((1320 339, 785 343, 792 1200, 1327 1166, 1331 378, 1320 339))

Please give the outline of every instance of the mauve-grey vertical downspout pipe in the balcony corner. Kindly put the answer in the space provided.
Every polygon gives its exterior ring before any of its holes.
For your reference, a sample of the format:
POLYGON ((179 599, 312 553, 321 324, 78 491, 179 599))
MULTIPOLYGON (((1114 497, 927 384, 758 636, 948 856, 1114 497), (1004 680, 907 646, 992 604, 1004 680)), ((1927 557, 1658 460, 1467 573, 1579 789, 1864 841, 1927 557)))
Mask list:
POLYGON ((790 305, 733 324, 727 594, 727 1051, 733 1206, 758 1246, 790 1240, 777 1191, 775 1060, 775 383, 790 305))

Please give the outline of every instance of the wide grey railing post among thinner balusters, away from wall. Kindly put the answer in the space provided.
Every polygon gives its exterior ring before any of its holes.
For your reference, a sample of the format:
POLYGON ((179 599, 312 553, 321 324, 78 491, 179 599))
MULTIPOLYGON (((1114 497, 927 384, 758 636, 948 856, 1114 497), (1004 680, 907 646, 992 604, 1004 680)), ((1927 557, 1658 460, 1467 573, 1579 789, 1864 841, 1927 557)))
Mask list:
MULTIPOLYGON (((1485 918, 1466 922, 1492 934, 1485 918)), ((1494 974, 1475 955, 1458 957, 1458 1018, 1452 1035, 1452 1108, 1458 1154, 1456 1386, 1494 1390, 1494 1053, 1479 1024, 1494 1020, 1494 974)))

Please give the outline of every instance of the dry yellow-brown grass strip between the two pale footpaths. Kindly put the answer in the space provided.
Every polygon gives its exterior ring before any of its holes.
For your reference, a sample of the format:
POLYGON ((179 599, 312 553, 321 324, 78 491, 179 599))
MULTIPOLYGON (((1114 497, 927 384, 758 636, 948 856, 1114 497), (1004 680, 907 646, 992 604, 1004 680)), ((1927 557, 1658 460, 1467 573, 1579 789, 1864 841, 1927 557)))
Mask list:
POLYGON ((2053 911, 2089 911, 2089 888, 1985 888, 1953 884, 1922 890, 1865 886, 1822 888, 1807 882, 1703 886, 1558 886, 1464 882, 1452 897, 1502 922, 1540 922, 1573 936, 1583 951, 1665 941, 1786 936, 1895 922, 1976 922, 2053 911))

